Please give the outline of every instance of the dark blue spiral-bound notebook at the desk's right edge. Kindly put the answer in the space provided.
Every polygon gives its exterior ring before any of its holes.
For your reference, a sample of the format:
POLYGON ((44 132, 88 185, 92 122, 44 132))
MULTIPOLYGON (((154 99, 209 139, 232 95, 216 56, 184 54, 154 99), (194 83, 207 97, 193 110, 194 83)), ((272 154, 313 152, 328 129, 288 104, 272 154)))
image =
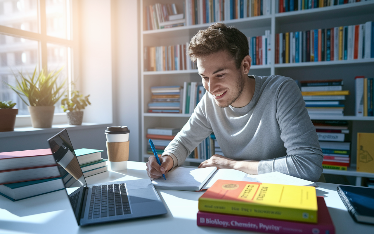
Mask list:
POLYGON ((374 224, 374 188, 339 185, 337 191, 353 220, 374 224))

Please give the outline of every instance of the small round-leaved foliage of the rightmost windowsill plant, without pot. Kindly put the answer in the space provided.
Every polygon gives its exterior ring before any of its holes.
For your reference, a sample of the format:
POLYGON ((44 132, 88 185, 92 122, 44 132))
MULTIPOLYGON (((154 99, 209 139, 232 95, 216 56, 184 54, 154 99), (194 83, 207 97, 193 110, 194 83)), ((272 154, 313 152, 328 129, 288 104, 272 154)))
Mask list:
MULTIPOLYGON (((75 84, 72 83, 71 86, 75 84)), ((73 90, 71 92, 71 98, 68 97, 68 94, 65 95, 65 98, 61 100, 61 107, 64 112, 77 112, 80 110, 85 109, 86 106, 91 105, 90 101, 88 100, 87 96, 83 96, 83 94, 79 94, 79 91, 73 90)))

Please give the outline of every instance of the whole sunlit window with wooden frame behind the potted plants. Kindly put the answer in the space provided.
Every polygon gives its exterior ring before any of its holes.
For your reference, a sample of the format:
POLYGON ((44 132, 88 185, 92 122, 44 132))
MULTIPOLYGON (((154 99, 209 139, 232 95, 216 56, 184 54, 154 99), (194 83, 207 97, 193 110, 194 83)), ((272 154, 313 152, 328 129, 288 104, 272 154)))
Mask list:
MULTIPOLYGON (((59 70, 60 82, 71 81, 71 0, 0 0, 0 100, 16 102, 18 115, 29 115, 27 105, 10 88, 13 74, 59 70)), ((63 113, 59 103, 55 113, 63 113)))

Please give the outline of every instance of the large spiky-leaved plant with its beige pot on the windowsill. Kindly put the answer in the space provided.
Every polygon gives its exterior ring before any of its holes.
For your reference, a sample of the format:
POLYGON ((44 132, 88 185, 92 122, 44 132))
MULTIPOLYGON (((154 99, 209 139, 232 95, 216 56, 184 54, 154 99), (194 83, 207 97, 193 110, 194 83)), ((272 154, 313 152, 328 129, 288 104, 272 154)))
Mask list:
POLYGON ((36 67, 32 76, 27 77, 18 72, 20 80, 16 78, 16 86, 6 83, 13 91, 15 91, 24 103, 27 104, 28 111, 31 116, 31 125, 33 128, 50 128, 52 127, 53 113, 55 112, 54 104, 64 94, 65 80, 57 84, 57 79, 62 68, 57 72, 46 74, 42 70, 36 74, 36 67), (28 99, 28 103, 24 100, 28 99))

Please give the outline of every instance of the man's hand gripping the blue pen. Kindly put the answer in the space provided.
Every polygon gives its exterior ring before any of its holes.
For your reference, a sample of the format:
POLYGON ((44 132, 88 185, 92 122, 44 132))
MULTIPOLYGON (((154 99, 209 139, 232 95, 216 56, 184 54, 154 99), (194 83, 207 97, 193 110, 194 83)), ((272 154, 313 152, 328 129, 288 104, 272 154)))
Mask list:
POLYGON ((148 158, 147 165, 147 173, 148 177, 151 180, 155 180, 162 176, 162 174, 168 173, 173 168, 174 161, 169 155, 165 155, 163 157, 159 157, 161 165, 157 163, 155 156, 150 156, 148 158))

